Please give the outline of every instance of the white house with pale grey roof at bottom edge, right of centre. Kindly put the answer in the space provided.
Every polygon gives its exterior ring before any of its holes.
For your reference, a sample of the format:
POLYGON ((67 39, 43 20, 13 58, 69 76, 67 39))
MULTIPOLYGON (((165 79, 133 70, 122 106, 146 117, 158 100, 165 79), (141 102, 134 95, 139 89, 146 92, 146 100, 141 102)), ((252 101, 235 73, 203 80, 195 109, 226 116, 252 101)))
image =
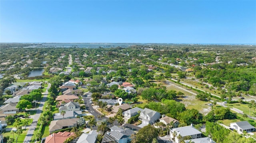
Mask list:
POLYGON ((193 127, 193 124, 185 127, 178 127, 174 129, 170 129, 170 137, 174 138, 173 134, 176 132, 175 143, 180 143, 185 137, 190 137, 191 139, 198 139, 202 137, 202 133, 193 127), (178 139, 178 136, 181 136, 178 139))

